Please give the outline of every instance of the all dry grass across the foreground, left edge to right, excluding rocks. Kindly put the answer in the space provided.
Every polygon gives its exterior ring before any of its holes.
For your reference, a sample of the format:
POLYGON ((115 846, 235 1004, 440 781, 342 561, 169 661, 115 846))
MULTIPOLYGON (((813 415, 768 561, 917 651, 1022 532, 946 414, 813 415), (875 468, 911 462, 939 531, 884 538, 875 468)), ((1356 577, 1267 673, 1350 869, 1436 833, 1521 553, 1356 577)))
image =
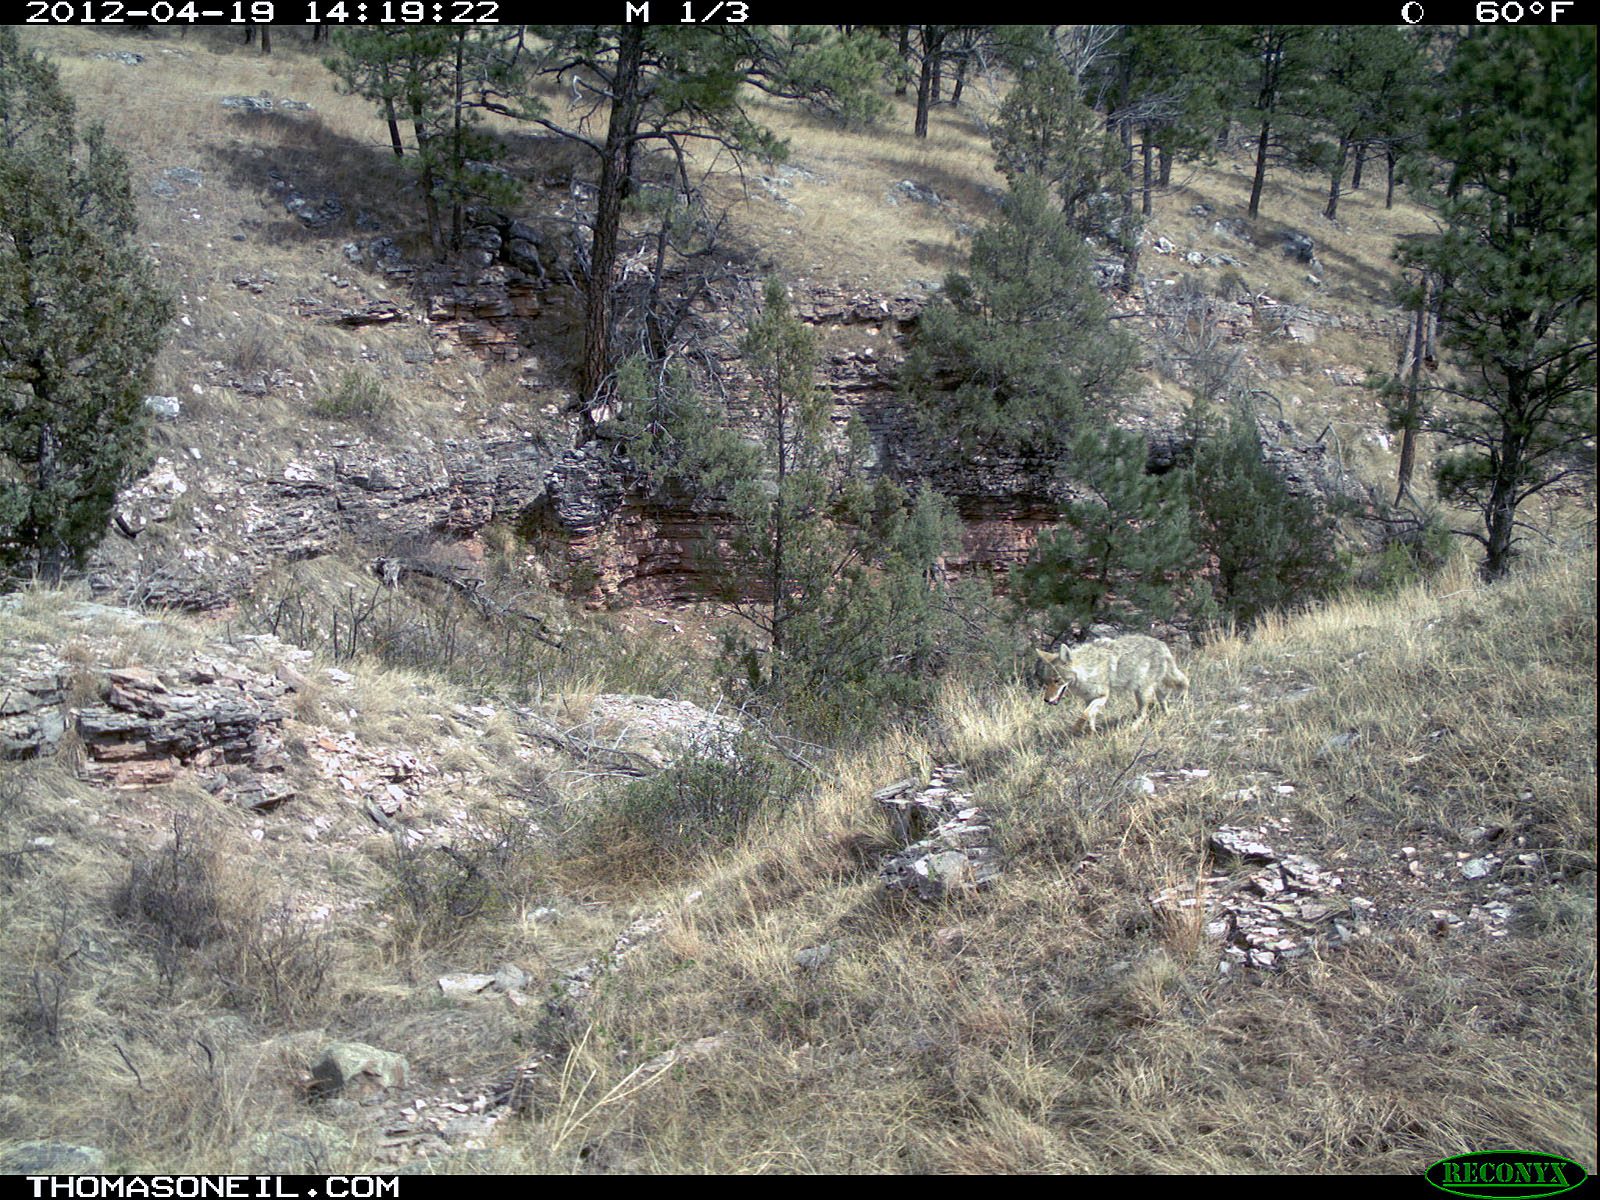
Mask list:
MULTIPOLYGON (((667 885, 563 864, 558 842, 506 861, 490 848, 493 902, 445 925, 429 922, 450 915, 450 880, 397 875, 374 832, 349 853, 269 822, 256 843, 246 814, 198 792, 112 814, 59 768, 8 766, 0 850, 22 874, 0 894, 0 1037, 19 1102, 0 1107, 0 1136, 70 1130, 144 1170, 274 1152, 371 1168, 365 1110, 312 1109, 301 1090, 338 1037, 405 1053, 434 1088, 547 1056, 494 1155, 446 1171, 1416 1171, 1488 1146, 1590 1160, 1592 578, 1578 554, 1496 589, 1461 573, 1269 622, 1190 656, 1187 701, 1141 730, 1114 706, 1098 738, 1027 688, 952 685, 934 720, 842 752, 667 885), (955 760, 1008 874, 941 909, 891 902, 867 797, 955 760), (1264 779, 1293 792, 1242 794, 1264 779), (1277 974, 1219 976, 1198 917, 1149 901, 1198 894, 1206 832, 1267 814, 1379 902, 1374 931, 1277 974), (130 906, 123 885, 134 862, 171 862, 174 819, 200 830, 184 878, 218 886, 166 893, 213 894, 222 920, 163 957, 171 914, 130 906), (1462 904, 1395 851, 1496 822, 1547 870, 1514 896, 1506 938, 1440 938, 1426 910, 1462 904), (50 854, 10 853, 42 835, 50 854), (344 915, 312 938, 282 922, 286 891, 344 915), (560 923, 531 918, 546 904, 560 923), (666 928, 576 1018, 437 998, 438 973, 507 960, 552 981, 651 910, 666 928), (795 963, 824 942, 830 960, 795 963), (267 1130, 291 1133, 266 1144, 267 1130)), ((50 635, 40 605, 8 619, 50 635)), ((174 645, 195 637, 163 624, 174 645)), ((512 811, 514 728, 451 715, 466 693, 437 678, 350 669, 357 685, 326 686, 323 710, 454 781, 414 819, 461 810, 493 830, 512 811)), ((318 787, 298 819, 341 811, 318 787)))

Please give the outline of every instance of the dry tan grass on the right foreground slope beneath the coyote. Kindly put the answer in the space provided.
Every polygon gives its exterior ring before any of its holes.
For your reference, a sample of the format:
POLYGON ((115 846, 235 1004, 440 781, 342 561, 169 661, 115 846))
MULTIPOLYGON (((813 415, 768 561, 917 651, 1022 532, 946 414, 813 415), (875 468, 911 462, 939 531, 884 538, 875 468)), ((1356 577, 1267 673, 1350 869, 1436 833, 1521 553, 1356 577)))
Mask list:
POLYGON ((704 899, 602 992, 605 1053, 573 1048, 584 1102, 550 1094, 518 1144, 554 1170, 730 1173, 1414 1173, 1490 1146, 1592 1160, 1594 637, 1581 560, 1218 643, 1189 664, 1189 704, 1142 734, 1122 714, 1069 738, 1037 699, 960 690, 946 744, 896 733, 851 755, 696 882, 704 899), (1357 749, 1320 752, 1349 726, 1357 749), (872 835, 866 795, 946 757, 979 776, 1011 874, 978 901, 890 904, 846 848, 872 835), (1211 774, 1131 786, 1174 766, 1211 774), (1294 792, 1230 798, 1262 770, 1294 792), (1147 898, 1197 885, 1208 829, 1266 811, 1314 829, 1387 920, 1282 974, 1219 978, 1198 922, 1147 898), (1576 874, 1518 899, 1504 939, 1440 939, 1384 891, 1390 856, 1494 816, 1576 874), (824 941, 830 962, 795 965, 824 941), (630 1082, 709 1034, 709 1058, 630 1082))

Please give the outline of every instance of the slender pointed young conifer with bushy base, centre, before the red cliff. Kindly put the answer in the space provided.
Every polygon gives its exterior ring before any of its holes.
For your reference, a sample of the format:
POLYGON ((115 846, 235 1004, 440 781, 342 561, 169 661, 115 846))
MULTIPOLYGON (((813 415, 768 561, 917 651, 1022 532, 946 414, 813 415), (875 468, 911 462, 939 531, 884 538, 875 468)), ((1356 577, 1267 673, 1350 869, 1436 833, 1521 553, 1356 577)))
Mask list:
POLYGON ((840 733, 917 702, 941 654, 936 563, 958 536, 949 502, 922 486, 854 469, 829 438, 814 387, 816 339, 768 282, 742 350, 758 440, 694 397, 680 376, 651 381, 638 360, 619 371, 616 432, 648 486, 672 486, 723 514, 728 536, 709 557, 720 594, 755 630, 730 637, 739 686, 811 733, 840 733))

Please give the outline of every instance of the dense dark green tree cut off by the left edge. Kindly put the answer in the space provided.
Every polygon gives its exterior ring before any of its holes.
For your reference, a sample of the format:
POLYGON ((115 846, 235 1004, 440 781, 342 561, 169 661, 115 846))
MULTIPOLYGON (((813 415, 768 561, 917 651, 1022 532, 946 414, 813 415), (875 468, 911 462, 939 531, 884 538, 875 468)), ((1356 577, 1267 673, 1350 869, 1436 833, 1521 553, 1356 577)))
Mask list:
POLYGON ((171 306, 133 237, 123 155, 0 27, 0 570, 59 579, 141 464, 171 306))

